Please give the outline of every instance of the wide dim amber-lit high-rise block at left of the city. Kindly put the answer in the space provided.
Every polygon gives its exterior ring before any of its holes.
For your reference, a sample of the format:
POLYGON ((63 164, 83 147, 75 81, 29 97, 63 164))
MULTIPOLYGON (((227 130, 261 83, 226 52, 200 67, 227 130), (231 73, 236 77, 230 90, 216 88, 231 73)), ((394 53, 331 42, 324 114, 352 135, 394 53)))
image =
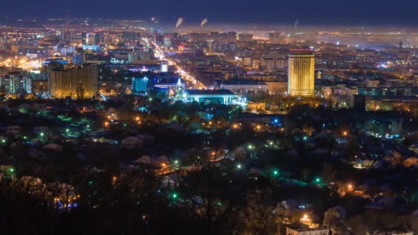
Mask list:
POLYGON ((54 98, 92 98, 98 92, 98 71, 94 64, 55 65, 49 69, 49 91, 54 98))

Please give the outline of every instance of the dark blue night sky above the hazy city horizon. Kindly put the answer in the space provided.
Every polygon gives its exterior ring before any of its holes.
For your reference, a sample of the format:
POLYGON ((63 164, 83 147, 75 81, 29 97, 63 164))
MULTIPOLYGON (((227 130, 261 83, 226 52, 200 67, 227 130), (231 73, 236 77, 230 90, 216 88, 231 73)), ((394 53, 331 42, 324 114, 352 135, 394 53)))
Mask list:
POLYGON ((418 1, 393 0, 21 0, 2 1, 0 12, 9 16, 71 16, 104 17, 113 19, 149 19, 231 23, 292 23, 301 25, 418 25, 418 1))

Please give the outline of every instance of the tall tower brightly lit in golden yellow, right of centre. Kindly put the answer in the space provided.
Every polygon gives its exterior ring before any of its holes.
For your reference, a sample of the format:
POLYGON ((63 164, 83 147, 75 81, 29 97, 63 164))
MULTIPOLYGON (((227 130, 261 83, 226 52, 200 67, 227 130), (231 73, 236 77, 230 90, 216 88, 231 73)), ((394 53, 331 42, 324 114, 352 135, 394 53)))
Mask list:
POLYGON ((291 49, 287 92, 289 96, 314 96, 315 61, 311 49, 291 49))

